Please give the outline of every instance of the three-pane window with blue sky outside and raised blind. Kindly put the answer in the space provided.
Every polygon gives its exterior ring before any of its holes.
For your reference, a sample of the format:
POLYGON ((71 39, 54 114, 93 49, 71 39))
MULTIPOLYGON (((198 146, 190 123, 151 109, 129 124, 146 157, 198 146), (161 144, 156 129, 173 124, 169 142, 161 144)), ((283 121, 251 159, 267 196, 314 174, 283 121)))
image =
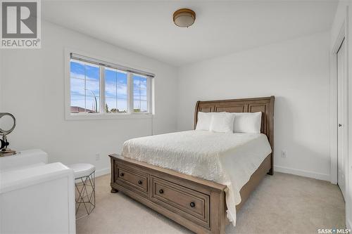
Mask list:
POLYGON ((70 53, 70 116, 151 114, 149 72, 70 53))

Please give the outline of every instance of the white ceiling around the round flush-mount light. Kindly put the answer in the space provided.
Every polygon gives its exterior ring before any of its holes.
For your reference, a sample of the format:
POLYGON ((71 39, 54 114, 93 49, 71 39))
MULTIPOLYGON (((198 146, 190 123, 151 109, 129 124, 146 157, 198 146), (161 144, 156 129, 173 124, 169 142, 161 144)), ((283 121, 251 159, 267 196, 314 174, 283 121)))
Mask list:
POLYGON ((42 1, 42 17, 180 66, 329 30, 337 1, 42 1), (179 8, 196 12, 189 28, 179 8))

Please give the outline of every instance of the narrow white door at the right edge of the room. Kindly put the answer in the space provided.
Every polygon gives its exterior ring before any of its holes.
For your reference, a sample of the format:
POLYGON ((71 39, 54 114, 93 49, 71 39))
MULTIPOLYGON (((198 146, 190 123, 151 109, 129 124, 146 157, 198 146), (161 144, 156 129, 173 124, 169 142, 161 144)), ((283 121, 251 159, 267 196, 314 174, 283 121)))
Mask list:
POLYGON ((345 151, 344 145, 346 140, 346 127, 344 122, 344 115, 346 114, 346 100, 344 96, 346 93, 344 89, 346 88, 345 82, 345 69, 346 69, 346 46, 345 42, 342 44, 337 51, 337 183, 341 189, 342 195, 345 197, 346 179, 345 179, 345 151))

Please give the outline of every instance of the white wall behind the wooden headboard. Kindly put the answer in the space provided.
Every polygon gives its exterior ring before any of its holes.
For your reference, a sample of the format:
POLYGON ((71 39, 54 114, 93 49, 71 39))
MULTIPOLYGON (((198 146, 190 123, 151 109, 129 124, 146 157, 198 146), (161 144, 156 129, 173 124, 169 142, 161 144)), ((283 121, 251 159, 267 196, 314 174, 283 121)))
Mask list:
POLYGON ((181 67, 178 129, 192 129, 196 100, 274 95, 275 171, 329 181, 329 37, 322 32, 181 67))

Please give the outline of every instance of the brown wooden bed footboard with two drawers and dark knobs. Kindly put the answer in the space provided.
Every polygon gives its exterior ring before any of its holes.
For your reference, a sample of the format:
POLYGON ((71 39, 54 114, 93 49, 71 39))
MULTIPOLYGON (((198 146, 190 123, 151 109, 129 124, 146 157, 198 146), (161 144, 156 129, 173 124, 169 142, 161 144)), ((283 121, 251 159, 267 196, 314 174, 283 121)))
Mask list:
POLYGON ((195 233, 225 233, 226 186, 120 155, 111 157, 111 193, 121 191, 195 233))

